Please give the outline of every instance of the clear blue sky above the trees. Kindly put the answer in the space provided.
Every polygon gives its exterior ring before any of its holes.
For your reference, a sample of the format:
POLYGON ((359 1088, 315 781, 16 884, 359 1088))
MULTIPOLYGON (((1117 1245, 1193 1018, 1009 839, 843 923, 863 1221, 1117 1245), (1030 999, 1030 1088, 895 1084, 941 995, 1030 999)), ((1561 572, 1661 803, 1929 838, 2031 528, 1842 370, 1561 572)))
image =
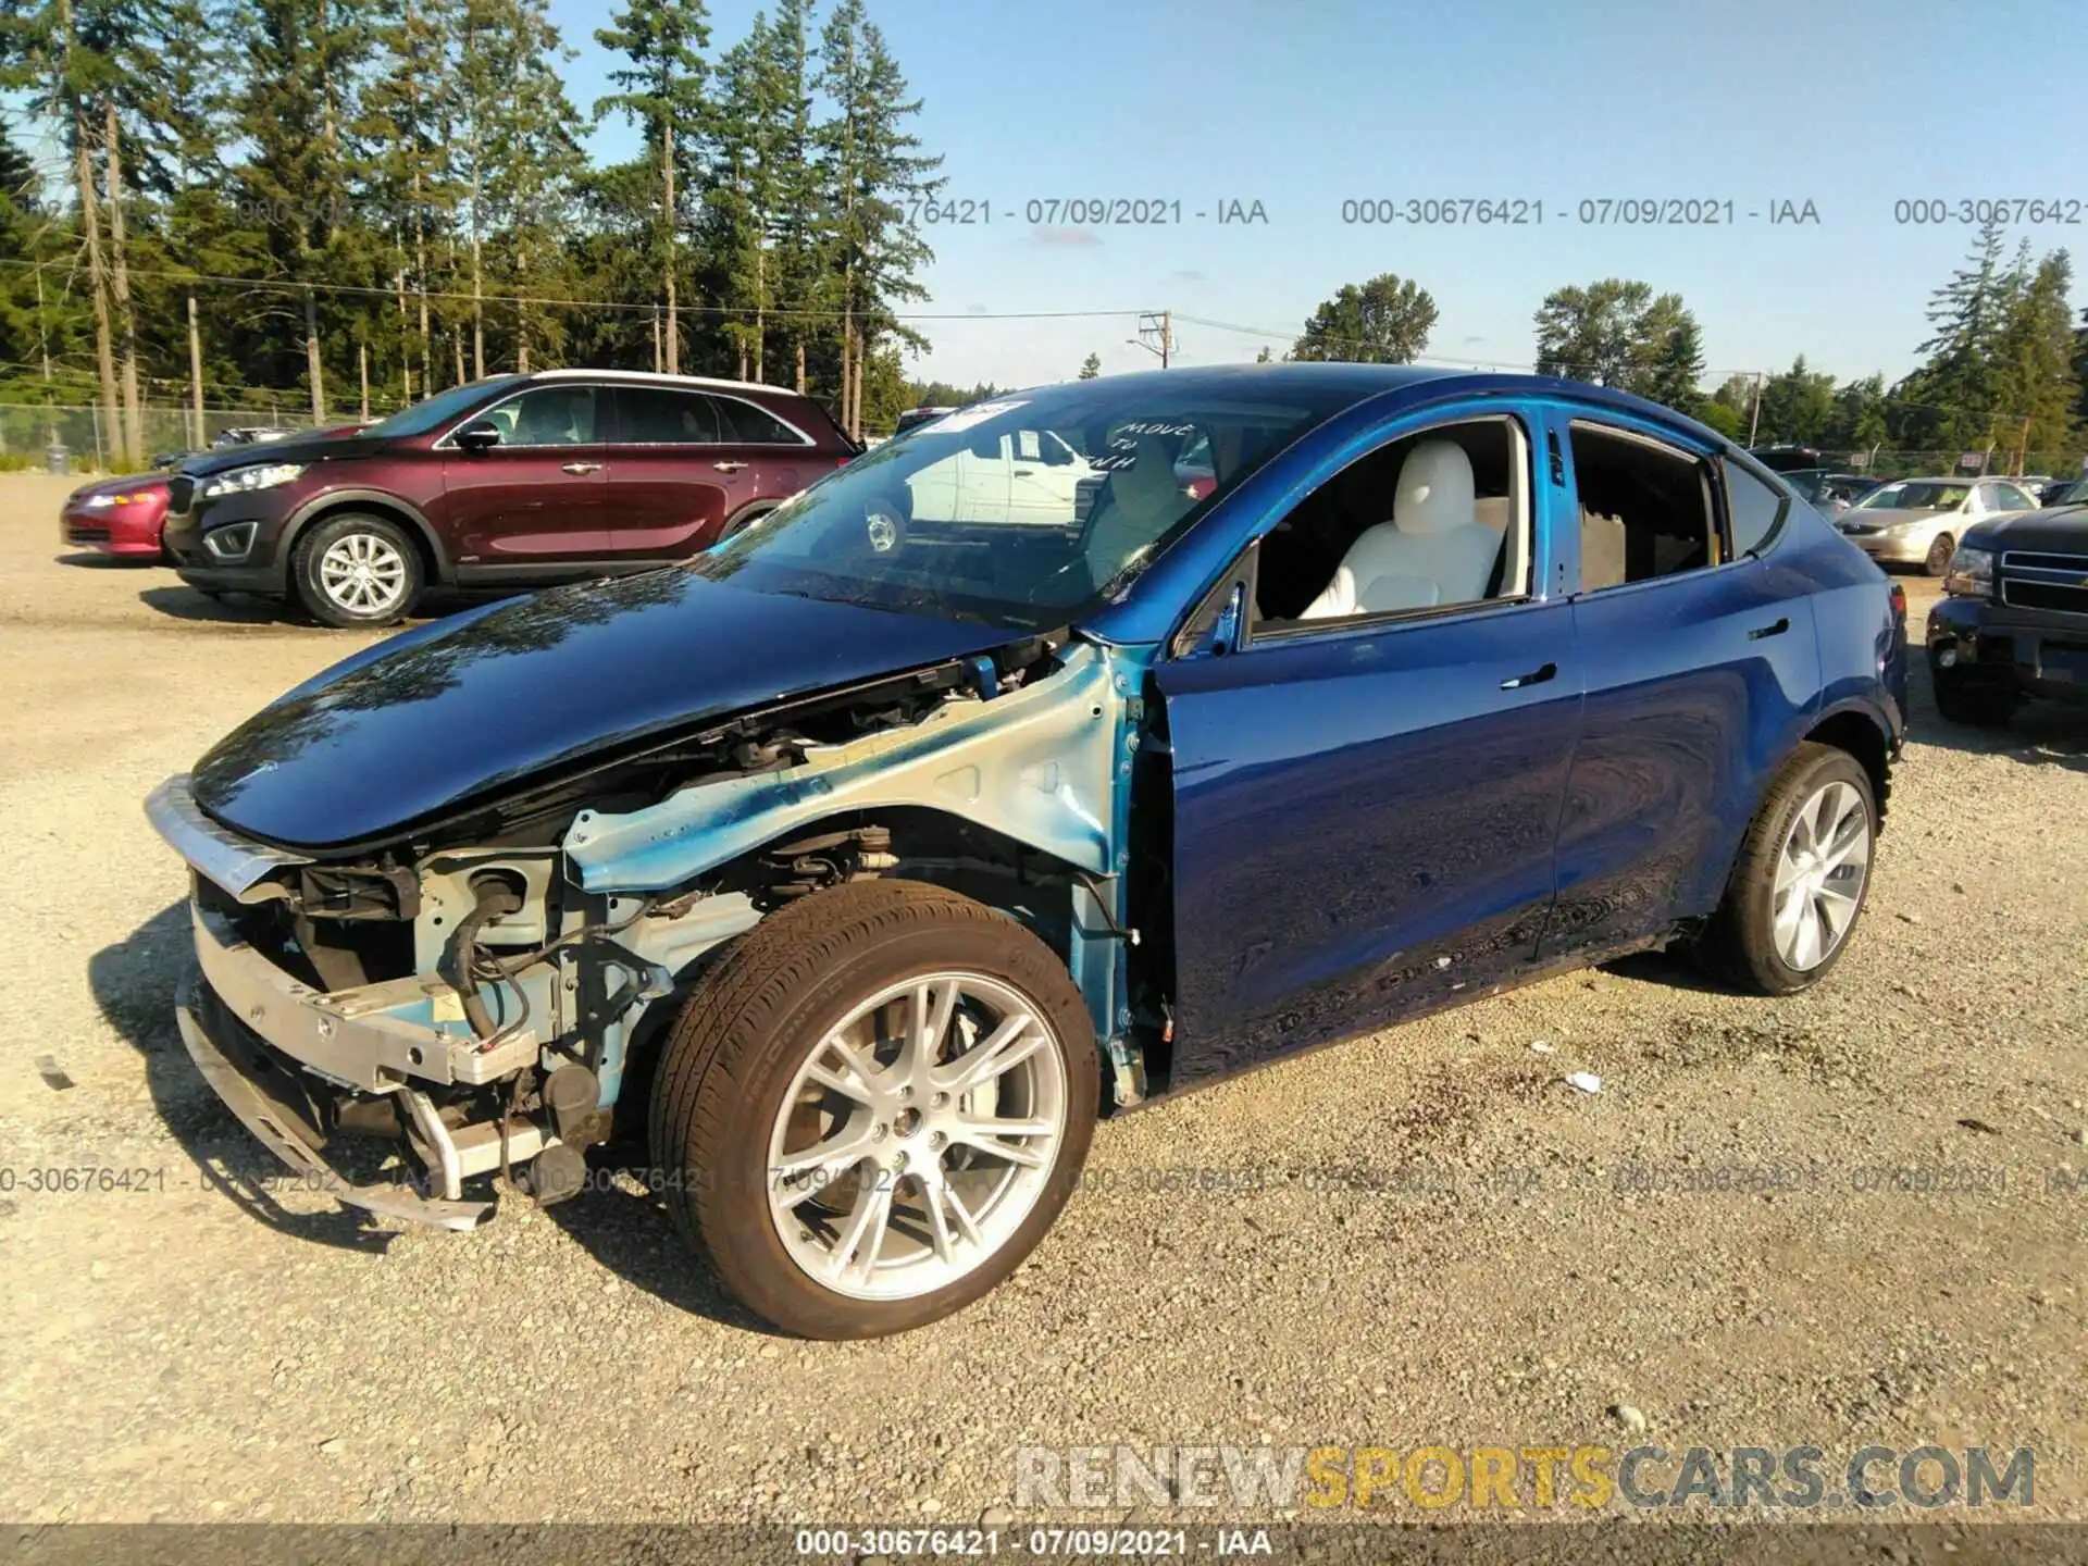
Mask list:
MULTIPOLYGON (((574 100, 606 90, 610 6, 553 0, 583 50, 574 100)), ((714 52, 756 4, 714 0, 714 52)), ((1971 230, 1902 226, 1900 198, 2071 198, 2078 226, 2019 226, 2088 269, 2088 6, 2080 0, 871 0, 925 100, 948 194, 986 228, 933 236, 933 353, 917 376, 1036 382, 1086 353, 1150 363, 1130 319, 977 311, 1161 309, 1270 328, 1178 328, 1184 361, 1278 351, 1313 305, 1378 271, 1416 278, 1430 353, 1526 361, 1560 284, 1643 278, 1683 294, 1718 372, 1837 376, 1913 365, 1923 303, 1971 230), (1029 200, 1180 200, 1184 221, 1038 234, 1029 200), (1539 228, 1343 223, 1349 198, 1524 196, 1539 228), (1583 198, 1733 200, 1735 228, 1599 228, 1583 198), (1267 223, 1194 211, 1259 200, 1267 223), (1771 226, 1773 200, 1817 226, 1771 226), (1764 213, 1748 219, 1748 211, 1764 213), (1006 221, 1013 213, 1017 221, 1006 221)), ((622 152, 620 125, 597 148, 622 152)), ((2088 303, 2088 282, 2075 305, 2088 303)))

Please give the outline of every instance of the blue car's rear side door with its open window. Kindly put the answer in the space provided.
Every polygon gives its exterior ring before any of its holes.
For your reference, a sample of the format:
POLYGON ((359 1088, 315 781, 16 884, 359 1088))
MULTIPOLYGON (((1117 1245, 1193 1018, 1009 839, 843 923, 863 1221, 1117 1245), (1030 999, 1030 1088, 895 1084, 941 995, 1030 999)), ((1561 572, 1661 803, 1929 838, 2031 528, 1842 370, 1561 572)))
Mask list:
POLYGON ((1587 697, 1547 960, 1710 912, 1819 699, 1810 580, 1775 551, 1783 489, 1610 411, 1556 409, 1553 434, 1581 514, 1572 614, 1587 697), (1620 560, 1622 578, 1597 557, 1620 560))

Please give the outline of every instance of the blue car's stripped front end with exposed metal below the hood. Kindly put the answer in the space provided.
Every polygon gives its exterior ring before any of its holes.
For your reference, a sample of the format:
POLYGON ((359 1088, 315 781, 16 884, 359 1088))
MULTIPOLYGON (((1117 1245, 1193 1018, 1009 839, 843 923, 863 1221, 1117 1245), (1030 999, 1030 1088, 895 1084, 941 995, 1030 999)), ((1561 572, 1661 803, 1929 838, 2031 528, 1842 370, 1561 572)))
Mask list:
POLYGON ((585 1148, 725 944, 837 881, 900 875, 1036 927, 1136 1102, 1140 681, 1121 649, 1034 637, 578 754, 330 850, 234 831, 173 777, 148 814, 192 867, 182 1038, 317 1188, 474 1228, 489 1176, 545 1203, 585 1186, 585 1148))

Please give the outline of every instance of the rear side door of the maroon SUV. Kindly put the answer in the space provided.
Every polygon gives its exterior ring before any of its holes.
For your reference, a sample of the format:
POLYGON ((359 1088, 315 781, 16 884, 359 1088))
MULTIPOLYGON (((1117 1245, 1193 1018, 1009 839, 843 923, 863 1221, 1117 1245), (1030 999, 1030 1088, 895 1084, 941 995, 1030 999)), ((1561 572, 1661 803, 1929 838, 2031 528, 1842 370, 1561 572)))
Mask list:
POLYGON ((710 547, 754 499, 756 468, 708 393, 616 386, 610 551, 683 560, 710 547))

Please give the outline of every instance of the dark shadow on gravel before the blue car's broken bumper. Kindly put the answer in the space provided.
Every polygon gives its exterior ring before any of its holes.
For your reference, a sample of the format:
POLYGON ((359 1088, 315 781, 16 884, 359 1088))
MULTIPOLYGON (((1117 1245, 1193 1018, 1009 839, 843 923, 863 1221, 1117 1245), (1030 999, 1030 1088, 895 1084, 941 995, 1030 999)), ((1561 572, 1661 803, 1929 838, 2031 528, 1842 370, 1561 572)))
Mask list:
POLYGON ((173 1140, 194 1161, 198 1184, 284 1234, 382 1253, 397 1234, 361 1209, 292 1213, 276 1201, 271 1186, 294 1176, 238 1123, 188 1059, 173 1021, 173 992, 192 960, 190 942, 188 904, 161 908, 127 940, 88 958, 88 988, 109 1025, 144 1057, 146 1090, 173 1140))

